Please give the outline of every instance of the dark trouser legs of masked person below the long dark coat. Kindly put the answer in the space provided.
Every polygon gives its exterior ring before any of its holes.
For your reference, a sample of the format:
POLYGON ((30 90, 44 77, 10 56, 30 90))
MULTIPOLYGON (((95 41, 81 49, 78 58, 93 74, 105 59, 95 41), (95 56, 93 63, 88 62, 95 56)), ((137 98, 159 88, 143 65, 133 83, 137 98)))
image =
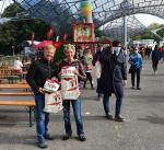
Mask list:
MULTIPOLYGON (((115 117, 118 117, 120 115, 121 104, 122 104, 122 96, 116 95, 115 117)), ((104 105, 105 114, 108 114, 109 113, 109 95, 108 94, 104 94, 103 105, 104 105)))

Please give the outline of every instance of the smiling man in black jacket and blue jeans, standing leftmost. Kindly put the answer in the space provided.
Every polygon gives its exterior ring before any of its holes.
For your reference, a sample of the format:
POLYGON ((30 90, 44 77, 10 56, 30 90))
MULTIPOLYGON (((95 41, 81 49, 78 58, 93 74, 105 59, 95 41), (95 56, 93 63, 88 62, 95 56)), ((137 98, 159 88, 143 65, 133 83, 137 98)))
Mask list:
POLYGON ((44 112, 44 84, 47 79, 58 77, 58 67, 52 64, 55 53, 56 48, 52 45, 45 46, 44 57, 33 61, 26 76, 26 81, 35 94, 36 130, 39 148, 47 148, 46 139, 52 140, 52 137, 48 134, 49 114, 44 112))

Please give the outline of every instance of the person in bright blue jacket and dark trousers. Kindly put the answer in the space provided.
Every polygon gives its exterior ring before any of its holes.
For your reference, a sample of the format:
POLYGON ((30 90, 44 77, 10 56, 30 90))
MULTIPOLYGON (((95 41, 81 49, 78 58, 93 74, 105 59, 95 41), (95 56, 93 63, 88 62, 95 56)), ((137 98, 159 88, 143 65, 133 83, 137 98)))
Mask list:
POLYGON ((136 47, 132 48, 132 53, 129 56, 130 69, 129 73, 131 73, 131 84, 132 89, 134 89, 134 78, 137 74, 137 90, 141 90, 140 88, 140 73, 142 70, 142 57, 138 53, 136 47))

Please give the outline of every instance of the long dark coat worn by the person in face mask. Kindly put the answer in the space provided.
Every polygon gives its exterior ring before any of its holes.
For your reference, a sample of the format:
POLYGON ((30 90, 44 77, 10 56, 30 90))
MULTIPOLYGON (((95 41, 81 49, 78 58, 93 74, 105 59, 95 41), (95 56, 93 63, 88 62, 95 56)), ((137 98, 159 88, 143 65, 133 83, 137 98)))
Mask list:
POLYGON ((122 80, 127 80, 127 62, 122 50, 118 56, 110 54, 109 49, 105 49, 99 61, 103 66, 102 74, 97 84, 97 92, 117 96, 124 96, 122 80))

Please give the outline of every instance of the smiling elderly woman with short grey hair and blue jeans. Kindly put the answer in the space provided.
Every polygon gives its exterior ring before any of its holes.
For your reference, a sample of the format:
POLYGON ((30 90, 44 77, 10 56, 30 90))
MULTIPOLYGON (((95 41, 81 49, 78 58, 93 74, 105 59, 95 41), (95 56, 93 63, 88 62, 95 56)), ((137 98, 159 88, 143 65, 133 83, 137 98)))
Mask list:
MULTIPOLYGON (((86 76, 84 72, 83 65, 74 59, 75 48, 73 45, 67 44, 65 45, 65 56, 66 59, 61 61, 59 65, 59 70, 63 67, 75 67, 73 71, 74 74, 78 76, 78 81, 85 81, 86 76)), ((62 86, 61 86, 62 89, 62 86)), ((83 131, 83 119, 81 114, 81 101, 79 97, 77 100, 63 100, 63 120, 65 120, 65 128, 66 135, 62 137, 63 140, 68 140, 71 138, 72 129, 71 129, 71 122, 70 122, 70 103, 73 107, 73 114, 77 123, 77 134, 80 141, 85 141, 85 136, 83 131)))

